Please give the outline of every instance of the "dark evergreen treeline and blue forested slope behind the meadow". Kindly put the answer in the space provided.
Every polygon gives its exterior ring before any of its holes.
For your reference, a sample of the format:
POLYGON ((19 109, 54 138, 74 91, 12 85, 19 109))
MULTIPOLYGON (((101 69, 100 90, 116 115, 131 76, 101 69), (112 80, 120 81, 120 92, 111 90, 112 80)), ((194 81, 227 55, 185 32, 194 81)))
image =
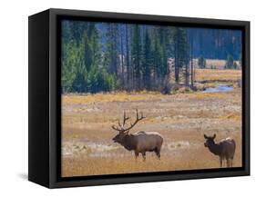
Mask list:
POLYGON ((149 90, 168 94, 171 81, 193 88, 192 58, 199 56, 204 61, 205 57, 225 57, 233 61, 241 57, 237 31, 211 30, 217 31, 215 36, 210 30, 201 30, 203 38, 199 31, 160 25, 63 21, 63 93, 149 90), (213 40, 216 45, 210 45, 213 40))

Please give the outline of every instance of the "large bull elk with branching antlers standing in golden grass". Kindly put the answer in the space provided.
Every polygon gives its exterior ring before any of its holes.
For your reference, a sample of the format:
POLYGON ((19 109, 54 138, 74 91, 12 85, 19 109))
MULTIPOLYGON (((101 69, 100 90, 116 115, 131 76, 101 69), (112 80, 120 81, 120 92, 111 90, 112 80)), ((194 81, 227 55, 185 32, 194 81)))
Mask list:
POLYGON ((146 152, 155 152, 160 159, 160 151, 163 143, 163 138, 159 133, 149 133, 149 132, 138 132, 130 134, 129 131, 142 119, 144 119, 143 113, 138 114, 138 109, 136 110, 136 120, 134 123, 130 123, 126 127, 126 123, 129 119, 126 112, 124 112, 124 117, 122 123, 118 121, 118 126, 113 125, 112 128, 118 131, 118 134, 112 139, 114 143, 119 143, 124 146, 128 151, 134 151, 135 158, 138 158, 138 154, 141 153, 143 161, 146 160, 146 152))

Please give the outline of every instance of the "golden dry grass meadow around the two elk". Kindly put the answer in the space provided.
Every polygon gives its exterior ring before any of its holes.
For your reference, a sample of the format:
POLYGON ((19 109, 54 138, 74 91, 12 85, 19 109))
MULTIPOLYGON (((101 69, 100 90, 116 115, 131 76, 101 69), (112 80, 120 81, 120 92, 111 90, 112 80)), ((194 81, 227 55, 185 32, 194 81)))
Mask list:
POLYGON ((219 168, 219 158, 204 147, 203 133, 216 133, 217 142, 232 137, 237 143, 233 166, 241 166, 240 79, 240 70, 205 69, 197 71, 198 83, 225 83, 233 90, 62 95, 62 176, 219 168), (134 118, 135 109, 146 118, 130 133, 160 133, 164 138, 160 160, 147 153, 146 162, 141 155, 136 162, 134 153, 112 141, 117 132, 111 125, 118 123, 124 110, 134 118))

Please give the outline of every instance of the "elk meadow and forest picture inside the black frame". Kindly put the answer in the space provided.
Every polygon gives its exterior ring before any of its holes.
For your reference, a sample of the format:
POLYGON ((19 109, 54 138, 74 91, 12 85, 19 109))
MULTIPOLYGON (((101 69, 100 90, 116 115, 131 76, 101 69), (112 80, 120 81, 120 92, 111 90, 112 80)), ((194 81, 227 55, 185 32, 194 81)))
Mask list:
POLYGON ((61 176, 242 166, 241 31, 61 20, 61 176))

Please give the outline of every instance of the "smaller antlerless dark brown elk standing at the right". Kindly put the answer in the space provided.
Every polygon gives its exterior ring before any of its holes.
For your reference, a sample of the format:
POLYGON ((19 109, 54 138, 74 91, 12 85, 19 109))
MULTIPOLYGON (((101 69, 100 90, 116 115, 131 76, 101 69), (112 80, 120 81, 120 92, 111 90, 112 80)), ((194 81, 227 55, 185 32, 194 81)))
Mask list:
POLYGON ((222 167, 222 161, 227 161, 227 167, 232 167, 232 162, 236 150, 236 143, 231 138, 226 138, 220 141, 220 143, 215 143, 214 139, 216 134, 212 137, 204 134, 206 142, 204 143, 205 147, 208 147, 210 152, 218 155, 220 157, 220 167, 222 167))

